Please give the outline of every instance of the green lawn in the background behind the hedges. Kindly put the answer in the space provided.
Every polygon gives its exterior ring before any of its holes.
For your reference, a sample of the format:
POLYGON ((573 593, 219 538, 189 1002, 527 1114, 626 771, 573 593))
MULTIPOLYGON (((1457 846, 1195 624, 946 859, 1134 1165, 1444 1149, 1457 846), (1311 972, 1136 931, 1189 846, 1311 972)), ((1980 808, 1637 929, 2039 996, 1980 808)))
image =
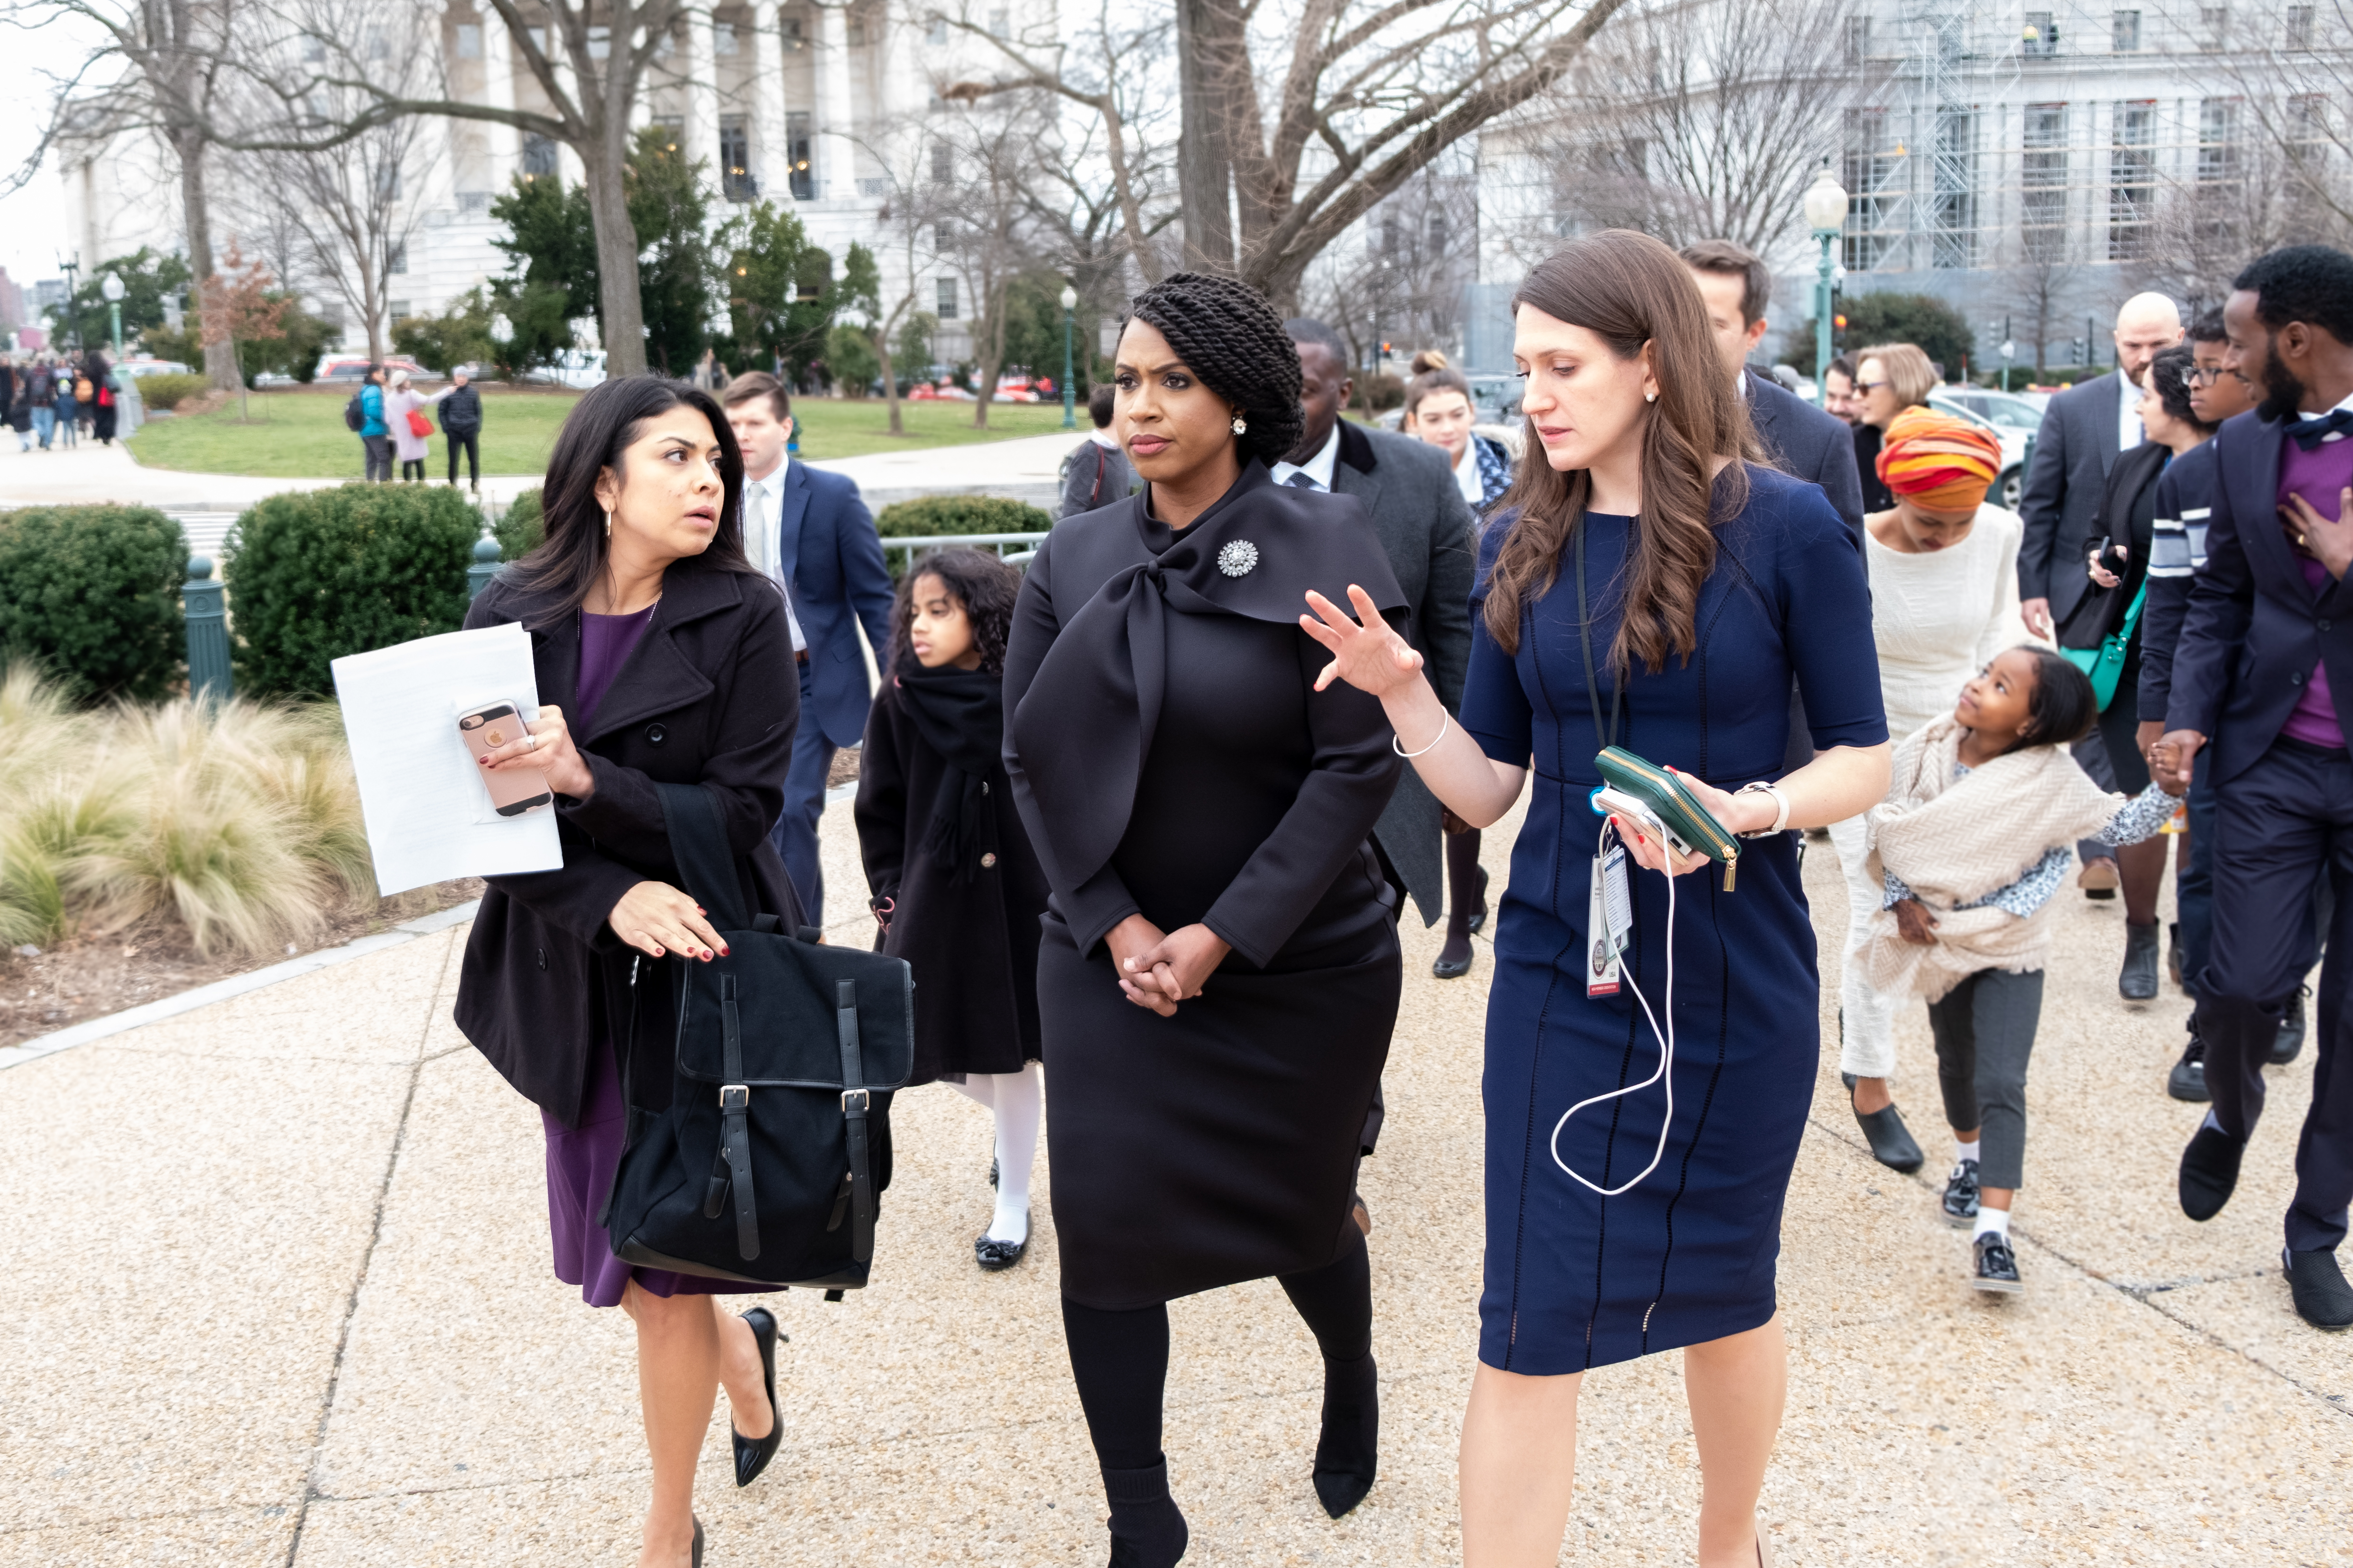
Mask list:
MULTIPOLYGON (((360 437, 344 428, 344 397, 348 393, 254 393, 249 400, 252 423, 238 423, 238 404, 228 404, 219 414, 158 418, 129 440, 129 451, 148 468, 264 480, 358 480, 360 437)), ((555 430, 574 402, 572 393, 485 388, 482 473, 541 473, 548 465, 555 430)), ((802 397, 793 404, 793 414, 800 418, 800 456, 849 458, 868 451, 960 447, 1061 430, 1059 402, 991 404, 986 430, 972 428, 969 402, 906 402, 899 407, 906 435, 889 433, 889 409, 882 400, 802 397)), ((426 475, 445 477, 447 473, 449 458, 442 437, 433 435, 426 475)))

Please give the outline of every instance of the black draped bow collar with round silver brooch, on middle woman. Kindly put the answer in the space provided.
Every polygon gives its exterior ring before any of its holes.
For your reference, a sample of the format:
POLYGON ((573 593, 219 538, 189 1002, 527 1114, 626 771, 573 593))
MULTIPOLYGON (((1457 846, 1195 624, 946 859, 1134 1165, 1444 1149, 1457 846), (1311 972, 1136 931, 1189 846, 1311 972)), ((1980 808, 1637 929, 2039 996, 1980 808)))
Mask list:
POLYGON ((1064 889, 1085 886, 1127 837, 1169 682, 1169 611, 1297 625, 1308 588, 1346 607, 1351 583, 1393 623, 1407 609, 1353 496, 1280 487, 1252 461, 1158 557, 1146 543, 1160 529, 1148 505, 1148 489, 1129 498, 1141 559, 1064 623, 1012 717, 1045 825, 1033 849, 1064 889))

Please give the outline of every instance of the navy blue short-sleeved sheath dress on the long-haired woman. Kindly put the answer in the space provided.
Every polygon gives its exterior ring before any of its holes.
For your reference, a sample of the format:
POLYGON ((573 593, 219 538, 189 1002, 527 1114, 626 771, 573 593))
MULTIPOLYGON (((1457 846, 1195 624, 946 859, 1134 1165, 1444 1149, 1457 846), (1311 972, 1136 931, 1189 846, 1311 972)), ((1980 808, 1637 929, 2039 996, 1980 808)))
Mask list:
MULTIPOLYGON (((1699 595, 1699 646, 1659 675, 1635 665, 1619 745, 1722 790, 1777 778, 1795 675, 1817 748, 1887 738, 1871 597, 1854 536, 1802 480, 1751 468, 1748 503, 1718 527, 1699 595)), ((1586 597, 1593 675, 1607 722, 1631 517, 1588 512, 1586 597)), ((1659 1041, 1621 985, 1586 994, 1586 891, 1602 820, 1591 792, 1595 724, 1579 649, 1574 552, 1522 611, 1520 649, 1485 625, 1485 583, 1508 531, 1480 545, 1471 679, 1461 724, 1497 762, 1534 759, 1527 825, 1511 851, 1487 1001, 1487 1279, 1480 1361, 1558 1375, 1704 1345, 1774 1312, 1781 1199, 1814 1095, 1819 992, 1814 926, 1798 884, 1798 835, 1751 839, 1737 891, 1722 870, 1675 882, 1675 1112, 1659 1166, 1664 1084, 1640 1084, 1659 1041), (1558 1161, 1555 1161, 1558 1147, 1558 1161)), ((1628 858, 1633 945, 1626 976, 1666 1020, 1666 879, 1628 858)))

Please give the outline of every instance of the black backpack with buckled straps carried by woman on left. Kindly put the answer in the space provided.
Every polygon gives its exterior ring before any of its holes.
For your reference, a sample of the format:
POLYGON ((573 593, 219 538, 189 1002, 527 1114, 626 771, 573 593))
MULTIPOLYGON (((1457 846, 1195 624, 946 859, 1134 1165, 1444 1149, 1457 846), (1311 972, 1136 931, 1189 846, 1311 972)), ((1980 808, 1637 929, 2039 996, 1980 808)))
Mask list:
POLYGON ((913 973, 751 917, 711 795, 656 790, 685 891, 729 954, 664 959, 678 999, 671 1107, 631 1100, 602 1213, 614 1258, 840 1300, 875 1253, 889 1100, 915 1067, 913 973))

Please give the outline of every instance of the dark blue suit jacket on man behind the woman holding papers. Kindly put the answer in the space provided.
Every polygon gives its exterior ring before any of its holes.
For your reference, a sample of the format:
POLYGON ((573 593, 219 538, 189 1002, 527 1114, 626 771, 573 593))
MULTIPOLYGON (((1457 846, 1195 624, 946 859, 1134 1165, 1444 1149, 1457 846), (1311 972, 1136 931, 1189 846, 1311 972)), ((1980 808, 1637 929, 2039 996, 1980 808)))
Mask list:
POLYGON ((784 527, 776 564, 793 585, 793 614, 809 642, 809 712, 833 745, 866 738, 866 658, 856 625, 866 628, 875 663, 889 661, 889 569, 875 520, 854 480, 802 461, 786 465, 784 527))

